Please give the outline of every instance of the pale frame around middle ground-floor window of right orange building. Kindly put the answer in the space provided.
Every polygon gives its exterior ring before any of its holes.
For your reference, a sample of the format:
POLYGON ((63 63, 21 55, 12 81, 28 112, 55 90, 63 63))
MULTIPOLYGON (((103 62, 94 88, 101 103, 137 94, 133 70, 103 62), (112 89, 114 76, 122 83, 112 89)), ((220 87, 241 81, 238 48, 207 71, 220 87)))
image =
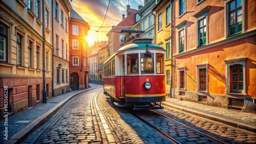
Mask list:
POLYGON ((209 82, 208 82, 208 79, 209 79, 209 76, 208 76, 208 63, 205 63, 205 64, 198 64, 196 65, 196 74, 197 74, 197 88, 196 88, 196 91, 199 91, 199 92, 208 92, 208 87, 209 87, 209 82), (199 82, 199 70, 200 69, 203 69, 203 68, 206 68, 206 89, 200 89, 200 82, 199 82))

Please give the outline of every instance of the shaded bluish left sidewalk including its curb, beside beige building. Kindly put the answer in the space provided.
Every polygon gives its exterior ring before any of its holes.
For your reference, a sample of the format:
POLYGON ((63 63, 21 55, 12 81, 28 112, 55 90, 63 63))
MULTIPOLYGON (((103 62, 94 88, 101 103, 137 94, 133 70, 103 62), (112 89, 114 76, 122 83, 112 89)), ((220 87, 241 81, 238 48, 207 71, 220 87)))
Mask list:
POLYGON ((4 125, 4 119, 1 119, 0 143, 20 143, 26 139, 33 131, 48 121, 59 109, 61 109, 75 95, 92 88, 84 90, 73 90, 71 92, 58 95, 49 99, 47 103, 40 103, 35 107, 8 117, 8 126, 4 125), (4 130, 8 127, 8 140, 4 139, 4 130))

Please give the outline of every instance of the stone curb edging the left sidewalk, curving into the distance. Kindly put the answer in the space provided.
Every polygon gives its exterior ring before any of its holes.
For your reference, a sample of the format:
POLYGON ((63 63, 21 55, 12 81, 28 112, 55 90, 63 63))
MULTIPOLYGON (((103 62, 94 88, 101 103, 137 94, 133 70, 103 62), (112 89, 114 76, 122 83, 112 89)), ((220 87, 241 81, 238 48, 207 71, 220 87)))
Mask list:
POLYGON ((23 142, 30 134, 32 134, 37 128, 39 128, 41 125, 43 125, 45 122, 47 122, 59 109, 61 109, 69 100, 71 100, 76 95, 91 90, 92 88, 88 88, 86 90, 80 91, 78 93, 75 93, 73 95, 70 95, 70 97, 66 98, 65 100, 59 102, 56 106, 48 110, 46 113, 42 114, 41 116, 37 117, 33 122, 28 124, 26 127, 24 127, 22 130, 18 131, 16 134, 14 134, 12 137, 10 137, 8 140, 6 140, 3 144, 16 144, 23 142))

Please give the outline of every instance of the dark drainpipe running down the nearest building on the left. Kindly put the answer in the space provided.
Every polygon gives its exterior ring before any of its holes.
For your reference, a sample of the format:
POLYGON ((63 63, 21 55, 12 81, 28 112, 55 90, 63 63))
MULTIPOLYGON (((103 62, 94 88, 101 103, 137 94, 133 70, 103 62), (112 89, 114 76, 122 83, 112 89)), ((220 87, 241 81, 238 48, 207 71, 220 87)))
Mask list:
MULTIPOLYGON (((42 0, 42 11, 45 11, 45 0, 42 0)), ((45 18, 42 19, 42 68, 43 68, 43 90, 42 90, 42 103, 47 103, 47 98, 46 98, 46 34, 45 34, 45 18)))

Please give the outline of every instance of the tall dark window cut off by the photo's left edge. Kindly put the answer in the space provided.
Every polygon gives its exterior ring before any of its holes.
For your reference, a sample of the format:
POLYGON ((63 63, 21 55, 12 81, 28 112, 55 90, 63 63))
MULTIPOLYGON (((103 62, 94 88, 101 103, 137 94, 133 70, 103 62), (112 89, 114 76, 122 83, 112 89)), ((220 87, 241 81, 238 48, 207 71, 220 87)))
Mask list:
POLYGON ((7 62, 7 27, 0 23, 0 61, 7 62))

